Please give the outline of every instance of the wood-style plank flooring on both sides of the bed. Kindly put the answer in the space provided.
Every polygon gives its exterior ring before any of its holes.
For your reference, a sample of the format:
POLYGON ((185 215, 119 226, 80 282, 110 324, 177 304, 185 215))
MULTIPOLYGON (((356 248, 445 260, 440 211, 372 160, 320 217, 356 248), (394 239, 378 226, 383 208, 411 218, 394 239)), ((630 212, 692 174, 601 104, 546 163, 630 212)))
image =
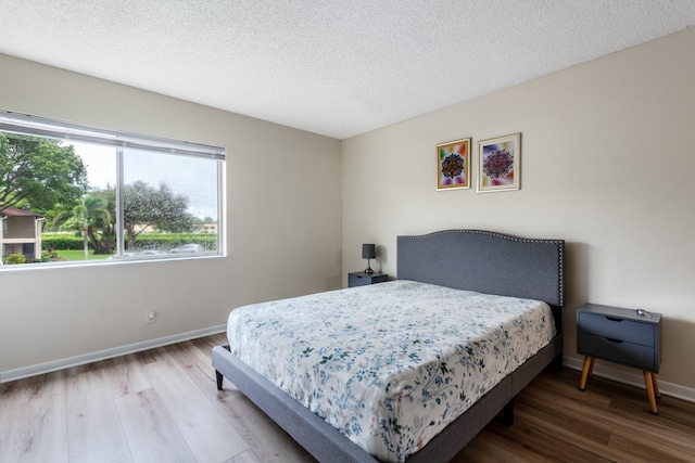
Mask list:
MULTIPOLYGON (((312 462, 225 380, 213 335, 0 385, 0 462, 312 462)), ((695 403, 549 368, 454 462, 693 462, 695 403)))

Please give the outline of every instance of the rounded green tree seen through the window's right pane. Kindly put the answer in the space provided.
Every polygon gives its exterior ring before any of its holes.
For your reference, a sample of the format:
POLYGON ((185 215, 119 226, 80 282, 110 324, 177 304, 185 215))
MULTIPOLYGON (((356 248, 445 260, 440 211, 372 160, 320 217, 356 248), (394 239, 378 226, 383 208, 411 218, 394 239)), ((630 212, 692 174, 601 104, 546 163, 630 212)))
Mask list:
POLYGON ((155 189, 137 181, 125 185, 123 192, 123 228, 128 247, 147 230, 180 233, 195 229, 198 218, 186 211, 188 197, 176 194, 166 183, 155 189))

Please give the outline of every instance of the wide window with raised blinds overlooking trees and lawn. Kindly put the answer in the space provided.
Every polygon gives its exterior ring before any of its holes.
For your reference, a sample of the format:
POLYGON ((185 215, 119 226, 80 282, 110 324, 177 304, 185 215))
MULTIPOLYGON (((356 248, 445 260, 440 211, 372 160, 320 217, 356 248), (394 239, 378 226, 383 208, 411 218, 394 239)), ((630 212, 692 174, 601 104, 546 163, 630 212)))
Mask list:
POLYGON ((3 269, 219 256, 224 163, 220 147, 0 112, 3 269))

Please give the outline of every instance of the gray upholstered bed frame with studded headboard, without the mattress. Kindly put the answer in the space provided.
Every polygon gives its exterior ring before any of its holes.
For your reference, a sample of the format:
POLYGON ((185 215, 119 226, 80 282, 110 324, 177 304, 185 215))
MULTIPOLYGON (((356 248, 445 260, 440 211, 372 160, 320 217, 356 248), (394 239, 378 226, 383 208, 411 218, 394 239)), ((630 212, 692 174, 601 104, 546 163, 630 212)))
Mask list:
MULTIPOLYGON (((447 230, 397 236, 397 278, 458 290, 543 300, 553 309, 557 335, 505 377, 407 462, 445 462, 502 411, 508 424, 513 399, 548 364, 561 365, 563 240, 528 240, 481 230, 447 230)), ((231 355, 213 348, 217 388, 223 378, 263 410, 320 462, 377 460, 295 399, 231 355)))

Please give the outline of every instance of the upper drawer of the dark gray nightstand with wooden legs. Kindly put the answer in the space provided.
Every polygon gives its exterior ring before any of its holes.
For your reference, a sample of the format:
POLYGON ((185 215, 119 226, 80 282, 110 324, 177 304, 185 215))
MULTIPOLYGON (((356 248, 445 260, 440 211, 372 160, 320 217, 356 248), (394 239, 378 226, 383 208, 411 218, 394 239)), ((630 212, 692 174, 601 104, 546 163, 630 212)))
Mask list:
POLYGON ((619 317, 579 312, 580 333, 654 347, 655 325, 619 317))

